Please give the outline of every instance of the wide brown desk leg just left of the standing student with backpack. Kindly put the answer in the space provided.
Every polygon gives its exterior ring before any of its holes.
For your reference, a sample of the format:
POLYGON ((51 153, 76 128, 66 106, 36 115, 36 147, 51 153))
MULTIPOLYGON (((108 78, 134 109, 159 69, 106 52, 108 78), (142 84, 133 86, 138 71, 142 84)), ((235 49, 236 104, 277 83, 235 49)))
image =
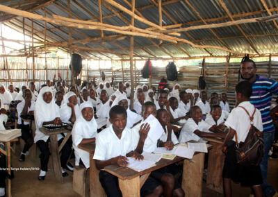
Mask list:
POLYGON ((214 191, 223 194, 222 171, 225 156, 222 153, 222 144, 209 142, 213 148, 208 151, 208 175, 206 176, 206 186, 214 191))

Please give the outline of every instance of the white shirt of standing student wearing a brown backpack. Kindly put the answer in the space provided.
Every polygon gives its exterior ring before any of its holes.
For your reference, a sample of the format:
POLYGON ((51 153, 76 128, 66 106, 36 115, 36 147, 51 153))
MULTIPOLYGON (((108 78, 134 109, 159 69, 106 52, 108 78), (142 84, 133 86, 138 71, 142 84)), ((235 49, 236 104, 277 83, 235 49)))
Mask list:
MULTIPOLYGON (((247 115, 245 110, 243 110, 243 108, 240 108, 240 106, 243 106, 247 110, 247 112, 249 112, 250 116, 252 116, 255 109, 254 105, 252 105, 250 101, 244 101, 239 103, 237 108, 231 110, 231 114, 225 122, 225 125, 236 130, 236 134, 238 135, 238 143, 245 141, 250 129, 250 117, 247 115)), ((259 131, 263 132, 261 112, 257 109, 254 114, 253 123, 259 131)), ((233 140, 234 142, 236 142, 235 137, 233 138, 233 140)))

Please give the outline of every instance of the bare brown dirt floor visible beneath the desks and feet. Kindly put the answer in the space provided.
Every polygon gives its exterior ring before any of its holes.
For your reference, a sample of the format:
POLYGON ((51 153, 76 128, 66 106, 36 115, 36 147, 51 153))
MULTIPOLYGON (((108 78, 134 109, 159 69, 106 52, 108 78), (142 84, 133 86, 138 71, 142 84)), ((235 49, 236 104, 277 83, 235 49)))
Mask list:
MULTIPOLYGON (((40 160, 37 155, 37 160, 32 162, 28 156, 26 156, 25 162, 19 162, 19 145, 17 145, 16 153, 12 155, 12 165, 14 168, 33 168, 31 170, 18 170, 15 171, 15 178, 12 180, 12 194, 13 197, 33 197, 33 196, 67 196, 76 197, 76 194, 72 189, 72 173, 64 178, 64 183, 57 182, 54 178, 53 171, 49 170, 44 181, 38 180, 40 173, 40 160)), ((40 152, 40 151, 38 151, 40 152)), ((74 161, 72 160, 72 163, 74 161)), ((278 191, 278 159, 270 159, 269 161, 269 172, 268 182, 275 187, 278 191)), ((249 196, 249 187, 240 187, 238 184, 233 183, 233 196, 249 196)), ((211 189, 206 188, 206 184, 203 185, 202 196, 223 196, 218 194, 211 189)))

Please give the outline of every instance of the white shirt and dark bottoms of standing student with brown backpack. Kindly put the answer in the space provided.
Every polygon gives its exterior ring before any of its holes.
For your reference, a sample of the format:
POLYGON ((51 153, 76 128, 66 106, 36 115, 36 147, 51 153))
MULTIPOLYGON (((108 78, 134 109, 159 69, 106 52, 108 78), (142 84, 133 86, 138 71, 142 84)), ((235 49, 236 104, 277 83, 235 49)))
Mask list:
MULTIPOLYGON (((233 128, 238 136, 239 146, 243 145, 250 130, 250 117, 243 108, 252 116, 254 105, 250 101, 242 102, 237 108, 231 111, 227 121, 224 123, 227 127, 233 128)), ((254 126, 263 132, 263 123, 261 112, 256 109, 253 119, 254 126)), ((244 186, 261 185, 263 183, 260 166, 241 166, 236 162, 236 139, 235 137, 228 143, 227 155, 224 161, 223 178, 231 178, 240 182, 244 186)))

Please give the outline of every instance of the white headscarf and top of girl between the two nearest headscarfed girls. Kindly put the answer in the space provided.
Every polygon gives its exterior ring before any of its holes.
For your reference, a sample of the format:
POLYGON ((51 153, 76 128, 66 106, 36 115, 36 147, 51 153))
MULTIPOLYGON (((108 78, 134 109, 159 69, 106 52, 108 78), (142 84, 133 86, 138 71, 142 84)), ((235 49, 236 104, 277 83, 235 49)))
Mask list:
MULTIPOLYGON (((60 117, 61 120, 65 123, 71 123, 69 121, 70 117, 72 116, 72 108, 70 108, 67 103, 70 103, 69 99, 72 96, 76 96, 76 94, 74 92, 68 92, 67 94, 65 94, 64 96, 64 103, 63 105, 61 105, 60 108, 60 117)), ((77 96, 76 96, 77 97, 77 96)), ((76 104, 74 105, 74 112, 75 112, 75 118, 77 119, 78 117, 80 117, 81 115, 81 110, 79 109, 79 105, 76 104)))

